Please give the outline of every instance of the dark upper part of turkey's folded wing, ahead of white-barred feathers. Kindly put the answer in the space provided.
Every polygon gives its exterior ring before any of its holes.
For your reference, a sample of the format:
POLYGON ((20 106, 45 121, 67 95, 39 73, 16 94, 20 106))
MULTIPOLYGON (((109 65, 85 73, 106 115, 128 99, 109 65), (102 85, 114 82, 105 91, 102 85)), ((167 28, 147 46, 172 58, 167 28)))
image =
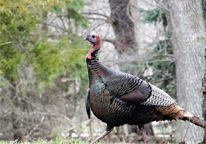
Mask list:
POLYGON ((128 104, 140 104, 151 95, 150 85, 130 74, 113 71, 104 83, 111 96, 128 104))

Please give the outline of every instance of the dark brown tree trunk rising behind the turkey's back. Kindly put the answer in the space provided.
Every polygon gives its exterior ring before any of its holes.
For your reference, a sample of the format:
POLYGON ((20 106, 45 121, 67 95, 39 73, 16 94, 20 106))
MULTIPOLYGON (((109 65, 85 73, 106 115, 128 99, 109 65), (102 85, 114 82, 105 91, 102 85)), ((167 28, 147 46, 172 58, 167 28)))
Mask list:
POLYGON ((109 0, 111 22, 115 33, 114 45, 120 55, 138 53, 135 27, 131 19, 130 0, 109 0))

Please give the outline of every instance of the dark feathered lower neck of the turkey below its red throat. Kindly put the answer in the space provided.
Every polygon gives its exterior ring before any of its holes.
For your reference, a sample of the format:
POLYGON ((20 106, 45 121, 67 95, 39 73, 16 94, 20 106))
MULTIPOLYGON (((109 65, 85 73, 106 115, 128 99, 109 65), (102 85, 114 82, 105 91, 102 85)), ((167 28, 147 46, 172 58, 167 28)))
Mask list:
POLYGON ((87 69, 89 74, 89 86, 95 82, 95 80, 101 80, 102 82, 105 81, 105 77, 107 75, 112 74, 112 70, 105 67, 98 58, 98 50, 95 50, 93 53, 91 53, 92 58, 86 60, 87 62, 87 69))

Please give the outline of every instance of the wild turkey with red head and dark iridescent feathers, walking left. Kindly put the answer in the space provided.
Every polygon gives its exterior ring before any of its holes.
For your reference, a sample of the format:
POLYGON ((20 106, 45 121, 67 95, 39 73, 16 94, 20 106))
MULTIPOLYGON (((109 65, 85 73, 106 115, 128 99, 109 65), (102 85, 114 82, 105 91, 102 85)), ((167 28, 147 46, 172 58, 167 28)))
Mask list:
POLYGON ((187 120, 205 127, 200 118, 176 105, 167 93, 146 81, 107 68, 98 59, 101 46, 97 34, 88 34, 85 40, 92 44, 86 55, 89 74, 89 92, 86 111, 107 124, 106 131, 93 142, 103 139, 115 126, 124 124, 142 126, 152 121, 187 120))

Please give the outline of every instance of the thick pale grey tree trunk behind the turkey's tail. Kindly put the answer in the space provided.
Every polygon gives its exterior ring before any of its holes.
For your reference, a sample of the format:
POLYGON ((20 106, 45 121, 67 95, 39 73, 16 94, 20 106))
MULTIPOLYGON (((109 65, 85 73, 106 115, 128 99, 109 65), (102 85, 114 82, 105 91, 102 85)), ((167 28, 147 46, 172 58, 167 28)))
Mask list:
MULTIPOLYGON (((165 1, 176 61, 178 105, 202 117, 201 77, 204 73, 205 27, 201 1, 165 1)), ((178 121, 176 141, 202 141, 203 129, 178 121)))

